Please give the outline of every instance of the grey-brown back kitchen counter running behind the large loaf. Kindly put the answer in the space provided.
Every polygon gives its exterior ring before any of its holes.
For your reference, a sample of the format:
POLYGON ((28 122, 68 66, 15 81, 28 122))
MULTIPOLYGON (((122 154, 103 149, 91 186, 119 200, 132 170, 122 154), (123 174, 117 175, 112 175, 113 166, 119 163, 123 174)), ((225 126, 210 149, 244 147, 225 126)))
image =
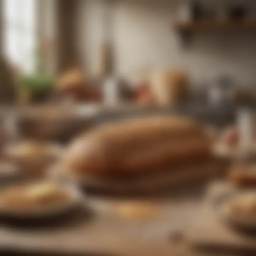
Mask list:
MULTIPOLYGON (((53 105, 53 108, 56 105, 53 105)), ((0 118, 11 116, 26 116, 31 107, 5 107, 0 108, 0 118)), ((76 132, 90 128, 91 126, 123 118, 147 116, 150 114, 181 114, 197 119, 214 127, 225 127, 236 120, 237 106, 209 106, 203 103, 187 103, 170 107, 138 107, 134 104, 119 105, 118 107, 106 107, 102 105, 73 105, 64 106, 63 111, 72 110, 76 118, 81 121, 81 127, 76 132), (88 126, 86 125, 88 123, 88 126)), ((40 118, 40 117, 38 117, 40 118)))

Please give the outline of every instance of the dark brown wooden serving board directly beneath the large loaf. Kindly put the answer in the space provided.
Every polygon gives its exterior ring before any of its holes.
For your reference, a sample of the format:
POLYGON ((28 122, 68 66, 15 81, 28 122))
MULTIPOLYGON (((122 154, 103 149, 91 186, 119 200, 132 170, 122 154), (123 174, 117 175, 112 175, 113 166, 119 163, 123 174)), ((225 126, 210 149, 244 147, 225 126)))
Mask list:
POLYGON ((223 177, 228 169, 228 161, 216 157, 186 163, 181 166, 159 170, 139 178, 122 180, 78 179, 78 184, 87 192, 102 194, 155 194, 183 187, 194 186, 212 178, 223 177))

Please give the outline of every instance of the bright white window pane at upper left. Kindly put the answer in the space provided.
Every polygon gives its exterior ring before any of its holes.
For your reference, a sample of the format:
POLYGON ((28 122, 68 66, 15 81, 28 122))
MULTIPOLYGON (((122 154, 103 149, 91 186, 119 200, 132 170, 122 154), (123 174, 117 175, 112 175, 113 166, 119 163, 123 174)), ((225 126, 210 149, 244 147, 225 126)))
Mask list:
POLYGON ((24 73, 36 68, 36 1, 4 0, 4 52, 24 73))

